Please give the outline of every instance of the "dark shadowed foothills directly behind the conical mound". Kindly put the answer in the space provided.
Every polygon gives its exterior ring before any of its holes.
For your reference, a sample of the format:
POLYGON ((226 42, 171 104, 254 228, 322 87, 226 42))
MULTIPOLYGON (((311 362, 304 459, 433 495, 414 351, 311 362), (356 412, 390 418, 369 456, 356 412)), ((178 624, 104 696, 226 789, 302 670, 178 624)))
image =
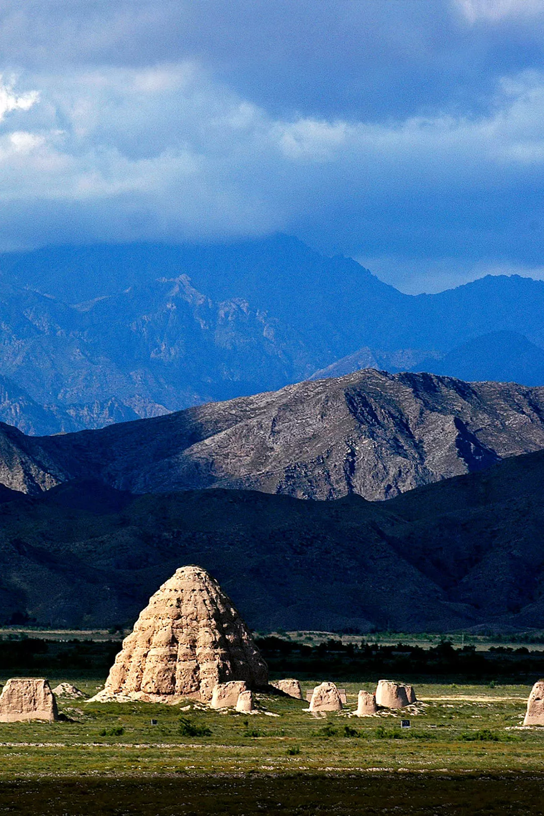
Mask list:
POLYGON ((0 492, 0 622, 131 624, 184 564, 253 628, 542 628, 544 452, 411 490, 302 501, 253 490, 130 495, 71 481, 0 492))

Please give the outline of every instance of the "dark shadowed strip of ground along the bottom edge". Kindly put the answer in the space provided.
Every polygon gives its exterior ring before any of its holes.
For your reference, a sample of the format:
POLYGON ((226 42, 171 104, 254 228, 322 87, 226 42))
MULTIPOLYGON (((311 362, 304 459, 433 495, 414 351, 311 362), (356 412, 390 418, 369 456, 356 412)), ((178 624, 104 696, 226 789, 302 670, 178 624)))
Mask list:
POLYGON ((33 816, 501 816, 544 813, 544 776, 214 776, 0 783, 0 814, 33 816))

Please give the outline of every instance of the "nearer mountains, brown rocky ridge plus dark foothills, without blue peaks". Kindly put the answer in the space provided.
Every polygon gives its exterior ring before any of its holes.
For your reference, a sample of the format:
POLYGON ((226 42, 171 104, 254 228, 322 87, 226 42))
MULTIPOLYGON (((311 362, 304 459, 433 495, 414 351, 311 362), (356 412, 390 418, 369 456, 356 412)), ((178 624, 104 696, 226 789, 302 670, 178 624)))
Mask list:
POLYGON ((542 485, 543 387, 427 373, 2 424, 0 622, 130 623, 197 563, 264 630, 540 627, 542 485))

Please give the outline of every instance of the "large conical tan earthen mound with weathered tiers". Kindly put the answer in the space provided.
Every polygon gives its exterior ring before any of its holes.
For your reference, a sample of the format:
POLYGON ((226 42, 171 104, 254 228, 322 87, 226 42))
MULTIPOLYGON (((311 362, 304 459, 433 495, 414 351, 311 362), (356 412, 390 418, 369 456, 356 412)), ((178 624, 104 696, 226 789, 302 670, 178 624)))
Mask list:
POLYGON ((267 685, 267 665, 219 583, 184 566, 140 612, 97 698, 207 701, 215 685, 232 680, 267 685))

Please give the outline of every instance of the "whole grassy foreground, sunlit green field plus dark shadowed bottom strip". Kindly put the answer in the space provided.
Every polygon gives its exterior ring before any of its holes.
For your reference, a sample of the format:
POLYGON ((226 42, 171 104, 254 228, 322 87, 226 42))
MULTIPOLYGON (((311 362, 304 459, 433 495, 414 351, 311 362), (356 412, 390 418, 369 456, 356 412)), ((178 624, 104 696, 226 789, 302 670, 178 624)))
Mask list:
POLYGON ((414 708, 365 718, 356 693, 374 684, 338 685, 347 706, 326 716, 263 694, 256 714, 60 698, 68 721, 0 724, 0 814, 544 813, 544 728, 520 729, 530 684, 420 684, 414 708))

